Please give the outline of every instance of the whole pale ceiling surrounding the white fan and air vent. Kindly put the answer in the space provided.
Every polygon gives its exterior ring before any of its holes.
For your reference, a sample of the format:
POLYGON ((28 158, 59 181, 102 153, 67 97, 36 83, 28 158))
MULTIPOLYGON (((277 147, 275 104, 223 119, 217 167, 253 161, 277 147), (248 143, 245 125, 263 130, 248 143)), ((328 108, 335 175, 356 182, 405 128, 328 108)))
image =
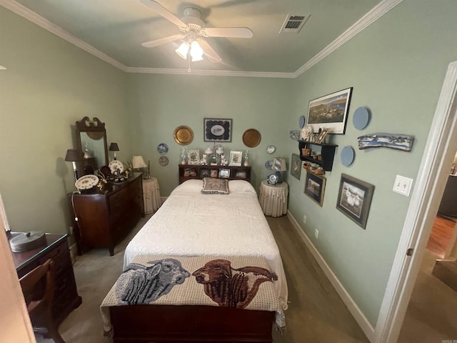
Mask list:
MULTIPOLYGON (((248 27, 251 39, 206 41, 221 56, 191 68, 206 74, 294 77, 364 29, 401 0, 157 0, 178 17, 185 7, 201 11, 206 27, 248 27), (288 15, 311 15, 296 33, 279 33, 288 15)), ((0 0, 7 9, 131 72, 187 72, 174 49, 141 43, 178 34, 170 21, 139 0, 0 0)))

